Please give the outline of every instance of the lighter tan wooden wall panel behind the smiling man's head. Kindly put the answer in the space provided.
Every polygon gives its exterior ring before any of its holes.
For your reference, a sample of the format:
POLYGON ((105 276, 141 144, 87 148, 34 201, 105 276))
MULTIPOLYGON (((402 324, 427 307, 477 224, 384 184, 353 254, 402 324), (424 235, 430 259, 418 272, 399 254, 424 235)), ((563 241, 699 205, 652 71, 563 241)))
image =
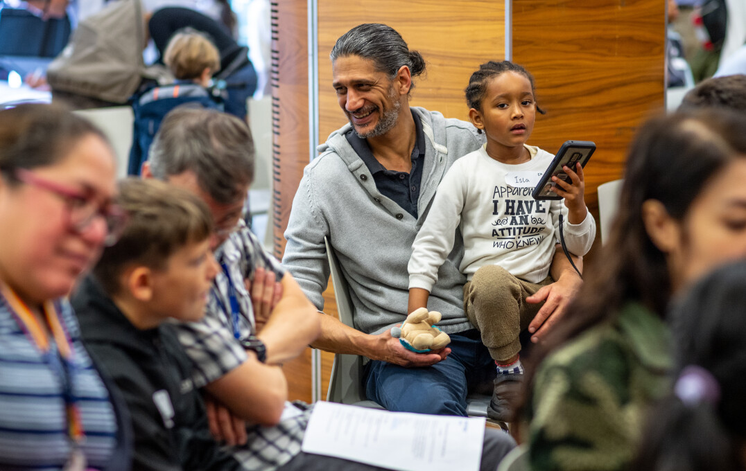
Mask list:
POLYGON ((347 121, 331 86, 329 53, 337 38, 360 23, 389 25, 422 54, 427 75, 415 79, 410 104, 448 118, 468 118, 463 89, 471 72, 505 56, 502 1, 319 1, 319 142, 347 121))

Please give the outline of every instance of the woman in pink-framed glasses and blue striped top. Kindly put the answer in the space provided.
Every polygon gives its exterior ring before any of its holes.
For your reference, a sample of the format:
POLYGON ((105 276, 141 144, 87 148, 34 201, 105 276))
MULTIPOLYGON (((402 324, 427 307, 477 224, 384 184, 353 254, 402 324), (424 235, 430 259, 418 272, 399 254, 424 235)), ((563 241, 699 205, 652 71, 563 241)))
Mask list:
POLYGON ((127 470, 126 420, 66 296, 123 221, 113 151, 42 104, 0 111, 0 469, 127 470))

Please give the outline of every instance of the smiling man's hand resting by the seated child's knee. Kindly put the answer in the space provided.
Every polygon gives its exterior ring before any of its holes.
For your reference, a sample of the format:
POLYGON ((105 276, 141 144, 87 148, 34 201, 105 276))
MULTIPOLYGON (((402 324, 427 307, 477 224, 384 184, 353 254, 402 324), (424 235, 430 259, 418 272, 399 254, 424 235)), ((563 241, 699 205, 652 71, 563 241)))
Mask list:
POLYGON ((541 303, 546 300, 542 309, 536 314, 528 325, 531 341, 537 343, 552 329, 567 313, 569 304, 574 299, 583 280, 572 270, 562 271, 562 275, 556 282, 546 285, 536 291, 536 294, 526 298, 527 303, 541 303))

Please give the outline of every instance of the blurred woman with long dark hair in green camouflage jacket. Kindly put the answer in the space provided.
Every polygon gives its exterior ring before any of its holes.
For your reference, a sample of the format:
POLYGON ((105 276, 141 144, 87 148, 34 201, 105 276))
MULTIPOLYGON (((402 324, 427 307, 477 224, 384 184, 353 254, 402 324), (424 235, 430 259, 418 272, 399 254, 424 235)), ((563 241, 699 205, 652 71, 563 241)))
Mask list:
POLYGON ((627 469, 645 409, 670 385, 668 300, 746 255, 745 180, 746 116, 679 113, 640 127, 610 240, 533 358, 532 469, 627 469))

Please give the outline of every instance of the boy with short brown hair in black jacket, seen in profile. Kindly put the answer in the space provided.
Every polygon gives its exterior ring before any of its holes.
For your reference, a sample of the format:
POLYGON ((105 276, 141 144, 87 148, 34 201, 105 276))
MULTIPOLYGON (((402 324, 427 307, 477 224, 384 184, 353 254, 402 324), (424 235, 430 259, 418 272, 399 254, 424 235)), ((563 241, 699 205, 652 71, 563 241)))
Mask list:
POLYGON ((210 434, 192 361, 167 323, 204 315, 218 271, 210 210, 155 180, 125 180, 120 195, 127 227, 72 303, 91 357, 127 402, 133 469, 239 470, 210 434))

